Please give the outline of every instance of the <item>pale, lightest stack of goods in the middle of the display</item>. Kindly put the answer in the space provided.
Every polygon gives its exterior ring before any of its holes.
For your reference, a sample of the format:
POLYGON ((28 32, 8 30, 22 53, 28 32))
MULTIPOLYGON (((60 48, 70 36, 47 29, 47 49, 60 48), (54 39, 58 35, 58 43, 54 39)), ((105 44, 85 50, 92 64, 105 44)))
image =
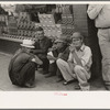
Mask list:
POLYGON ((53 14, 38 14, 40 23, 44 34, 48 37, 59 37, 62 34, 61 24, 55 24, 53 14))

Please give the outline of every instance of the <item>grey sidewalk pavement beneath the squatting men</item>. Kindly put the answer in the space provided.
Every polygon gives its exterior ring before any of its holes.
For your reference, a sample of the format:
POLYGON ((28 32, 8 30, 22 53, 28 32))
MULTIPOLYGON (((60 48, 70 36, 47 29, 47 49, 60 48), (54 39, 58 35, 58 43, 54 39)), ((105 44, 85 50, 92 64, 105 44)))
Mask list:
MULTIPOLYGON (((77 82, 69 84, 67 86, 63 85, 63 81, 56 82, 57 77, 45 78, 40 72, 35 73, 36 82, 35 88, 21 88, 11 84, 8 75, 8 66, 12 55, 4 54, 0 52, 0 91, 75 91, 74 87, 77 82)), ((91 91, 105 91, 101 79, 96 79, 90 82, 91 91)))

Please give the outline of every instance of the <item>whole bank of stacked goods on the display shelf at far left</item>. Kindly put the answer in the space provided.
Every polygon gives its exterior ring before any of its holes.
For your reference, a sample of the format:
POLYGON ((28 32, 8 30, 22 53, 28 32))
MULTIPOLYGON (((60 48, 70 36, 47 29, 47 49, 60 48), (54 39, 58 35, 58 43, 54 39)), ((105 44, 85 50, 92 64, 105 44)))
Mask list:
POLYGON ((31 21, 28 12, 20 12, 19 18, 9 16, 8 34, 3 34, 10 38, 34 38, 35 22, 31 21))

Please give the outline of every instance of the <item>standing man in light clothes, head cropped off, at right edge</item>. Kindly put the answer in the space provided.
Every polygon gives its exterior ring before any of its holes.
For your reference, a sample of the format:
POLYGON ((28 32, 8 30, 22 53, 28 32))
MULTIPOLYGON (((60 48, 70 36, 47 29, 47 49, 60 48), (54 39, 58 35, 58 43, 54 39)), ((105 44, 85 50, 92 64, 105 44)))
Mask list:
POLYGON ((102 78, 110 90, 110 4, 89 4, 87 13, 98 28, 99 45, 102 54, 102 78))

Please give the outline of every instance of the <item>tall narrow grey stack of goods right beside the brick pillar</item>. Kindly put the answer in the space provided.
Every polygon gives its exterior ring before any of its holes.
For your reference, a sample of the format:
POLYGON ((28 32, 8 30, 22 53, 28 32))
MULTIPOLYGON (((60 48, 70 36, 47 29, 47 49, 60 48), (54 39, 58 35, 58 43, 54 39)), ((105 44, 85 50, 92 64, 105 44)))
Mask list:
POLYGON ((74 31, 75 26, 70 8, 69 6, 64 6, 62 14, 62 32, 64 35, 72 35, 74 31))

